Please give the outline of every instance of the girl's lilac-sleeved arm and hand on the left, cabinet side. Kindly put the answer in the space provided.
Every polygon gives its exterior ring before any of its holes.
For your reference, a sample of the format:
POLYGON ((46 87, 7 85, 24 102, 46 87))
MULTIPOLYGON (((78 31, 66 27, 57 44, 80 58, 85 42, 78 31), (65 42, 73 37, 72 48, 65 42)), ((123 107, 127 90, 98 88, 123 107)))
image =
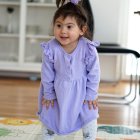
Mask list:
POLYGON ((50 104, 53 104, 54 100, 56 99, 54 90, 54 60, 49 44, 42 43, 41 45, 44 48, 41 68, 41 83, 44 89, 42 103, 46 103, 46 106, 48 107, 50 104))

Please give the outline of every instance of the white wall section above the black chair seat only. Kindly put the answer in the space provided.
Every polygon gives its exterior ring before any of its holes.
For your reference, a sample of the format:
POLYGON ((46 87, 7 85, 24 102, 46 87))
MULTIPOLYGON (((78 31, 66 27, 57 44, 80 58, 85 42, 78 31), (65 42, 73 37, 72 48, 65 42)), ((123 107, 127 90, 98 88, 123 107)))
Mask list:
POLYGON ((127 42, 129 0, 89 0, 94 15, 94 39, 102 43, 127 42))

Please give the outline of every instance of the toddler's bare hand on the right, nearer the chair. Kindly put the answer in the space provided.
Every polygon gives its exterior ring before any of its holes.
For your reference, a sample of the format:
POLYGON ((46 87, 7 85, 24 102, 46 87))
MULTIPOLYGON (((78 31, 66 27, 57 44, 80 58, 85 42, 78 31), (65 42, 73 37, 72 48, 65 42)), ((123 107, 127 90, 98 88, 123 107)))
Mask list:
POLYGON ((84 100, 84 104, 88 103, 88 107, 89 107, 89 110, 91 109, 96 109, 98 107, 98 98, 95 99, 95 100, 89 100, 89 101, 86 101, 84 100))

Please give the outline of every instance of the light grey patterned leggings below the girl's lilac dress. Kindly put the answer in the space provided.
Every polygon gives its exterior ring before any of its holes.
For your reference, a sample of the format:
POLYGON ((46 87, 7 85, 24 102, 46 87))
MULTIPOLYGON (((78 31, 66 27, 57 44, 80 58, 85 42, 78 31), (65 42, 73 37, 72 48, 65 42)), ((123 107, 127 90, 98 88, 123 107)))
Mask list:
MULTIPOLYGON (((92 120, 82 128, 83 140, 95 140, 97 135, 97 120, 92 120)), ((42 127, 42 140, 54 140, 55 133, 42 127)))

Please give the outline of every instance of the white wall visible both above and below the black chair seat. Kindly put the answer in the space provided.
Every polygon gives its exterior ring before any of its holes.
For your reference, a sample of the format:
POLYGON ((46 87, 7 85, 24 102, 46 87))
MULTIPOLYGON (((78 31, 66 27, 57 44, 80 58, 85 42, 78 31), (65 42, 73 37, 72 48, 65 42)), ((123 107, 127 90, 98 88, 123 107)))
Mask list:
MULTIPOLYGON (((94 15, 94 40, 127 46, 129 0, 89 0, 94 15)), ((121 59, 116 55, 100 55, 101 80, 118 81, 121 59)))

